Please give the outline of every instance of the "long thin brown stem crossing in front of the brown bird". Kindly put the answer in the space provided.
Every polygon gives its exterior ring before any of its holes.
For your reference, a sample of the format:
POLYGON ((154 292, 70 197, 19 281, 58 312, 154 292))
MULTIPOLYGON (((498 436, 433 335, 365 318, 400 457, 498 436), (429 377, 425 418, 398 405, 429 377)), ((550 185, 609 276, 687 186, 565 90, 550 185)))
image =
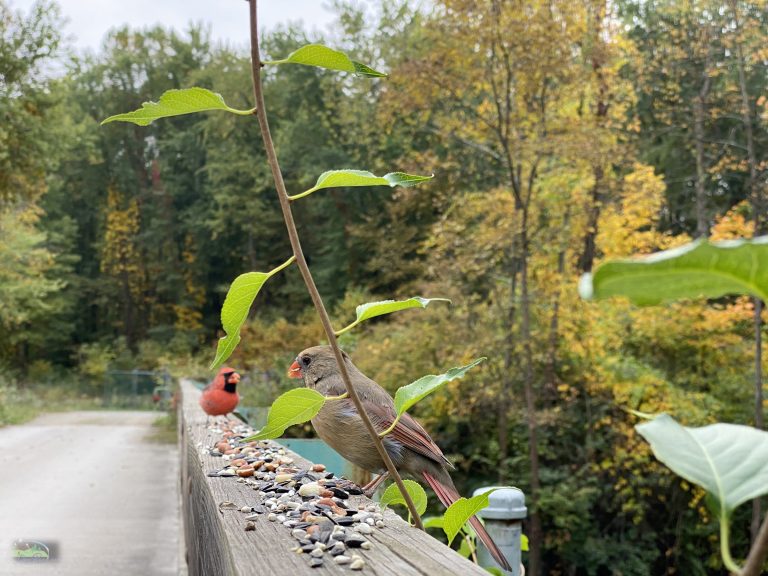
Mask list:
POLYGON ((384 461, 384 465, 387 467, 387 471, 389 472, 390 476, 392 476, 392 479, 397 484, 397 487, 400 489, 400 493, 403 496, 403 499, 405 500, 405 504, 408 507, 408 511, 410 512, 411 516, 414 518, 416 527, 420 530, 424 530, 424 525, 421 522, 421 517, 419 516, 416 505, 413 503, 413 499, 411 498, 410 494, 408 494, 408 491, 405 489, 405 484, 403 484, 403 479, 400 477, 400 474, 397 472, 397 469, 395 468, 394 463, 392 462, 392 459, 389 457, 389 454, 387 453, 387 449, 384 447, 384 443, 381 438, 379 438, 378 433, 376 432, 376 429, 373 427, 373 424, 371 423, 371 419, 368 417, 368 414, 365 412, 365 408, 363 408, 363 404, 360 401, 360 397, 357 394, 357 391, 355 390, 355 387, 352 386, 352 381, 349 378, 349 373, 347 372, 346 364, 344 363, 344 358, 341 355, 341 348, 339 348, 339 344, 336 341, 336 334, 333 331, 333 327, 331 326, 331 320, 328 317, 328 312, 325 310, 325 305, 323 304, 323 299, 320 296, 320 293, 317 290, 317 286, 315 286, 315 281, 312 278, 312 273, 309 270, 309 266, 307 266, 307 261, 304 258, 304 252, 301 249, 301 242, 299 240, 299 233, 298 230, 296 230, 296 224, 293 220, 293 212, 291 211, 291 201, 288 198, 288 192, 285 189, 285 182, 283 181, 283 174, 280 171, 280 164, 277 160, 277 153, 275 152, 275 145, 272 140, 272 135, 269 131, 269 123, 267 122, 267 113, 264 108, 264 93, 262 91, 262 85, 261 85, 261 57, 259 55, 259 34, 258 34, 258 20, 257 20, 257 0, 249 0, 249 9, 250 9, 250 22, 251 22, 251 72, 253 75, 253 96, 256 101, 256 117, 259 120, 259 127, 261 128, 261 137, 264 140, 264 148, 267 152, 267 161, 269 162, 269 167, 272 170, 272 177, 275 180, 275 187, 277 188, 277 196, 280 200, 280 208, 283 212, 283 220, 285 221, 285 227, 288 230, 288 237, 291 241, 291 248, 293 248, 293 254, 296 256, 296 264, 299 267, 299 271, 301 272, 301 277, 304 279, 304 284, 307 286, 307 291, 309 292, 310 297, 312 298, 312 303, 315 305, 315 310, 317 310, 317 315, 320 317, 320 322, 323 325, 323 330, 325 331, 325 335, 328 338, 328 343, 331 346, 331 349, 333 350, 333 355, 336 357, 336 363, 339 367, 339 372, 341 373, 341 379, 344 382, 344 385, 347 388, 347 393, 349 394, 350 399, 355 405, 355 408, 357 409, 357 413, 360 415, 360 418, 362 419, 363 423, 365 424, 366 429, 368 430, 368 434, 370 434, 371 439, 373 440, 374 445, 376 446, 376 450, 379 452, 379 456, 381 456, 381 459, 384 461))

